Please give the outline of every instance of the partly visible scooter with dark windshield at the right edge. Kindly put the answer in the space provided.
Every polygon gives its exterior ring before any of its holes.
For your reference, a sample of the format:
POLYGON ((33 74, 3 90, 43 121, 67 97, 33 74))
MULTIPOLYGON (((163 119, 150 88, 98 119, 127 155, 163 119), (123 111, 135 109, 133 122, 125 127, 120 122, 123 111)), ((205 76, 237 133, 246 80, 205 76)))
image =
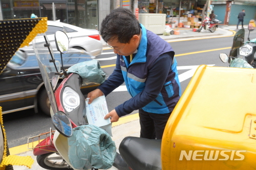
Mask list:
POLYGON ((228 62, 229 67, 256 68, 256 38, 250 40, 250 32, 256 27, 256 21, 251 19, 248 25, 248 41, 244 43, 245 30, 239 30, 233 38, 233 44, 229 57, 225 53, 220 54, 222 62, 228 62))

